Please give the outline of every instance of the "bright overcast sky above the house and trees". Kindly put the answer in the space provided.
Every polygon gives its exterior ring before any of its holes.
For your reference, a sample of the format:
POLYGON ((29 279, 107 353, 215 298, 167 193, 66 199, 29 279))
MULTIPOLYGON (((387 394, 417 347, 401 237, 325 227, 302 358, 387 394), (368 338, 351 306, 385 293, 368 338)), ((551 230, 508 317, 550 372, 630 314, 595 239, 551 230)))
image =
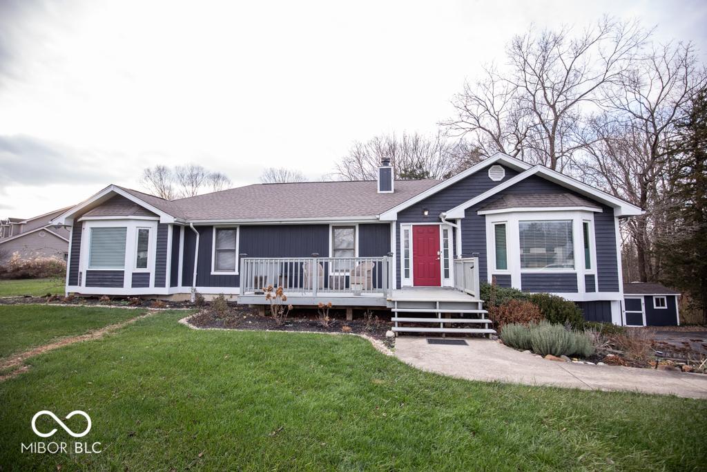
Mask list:
POLYGON ((703 0, 0 0, 0 216, 139 188, 156 163, 319 180, 355 140, 436 132, 531 24, 604 13, 707 57, 703 0))

